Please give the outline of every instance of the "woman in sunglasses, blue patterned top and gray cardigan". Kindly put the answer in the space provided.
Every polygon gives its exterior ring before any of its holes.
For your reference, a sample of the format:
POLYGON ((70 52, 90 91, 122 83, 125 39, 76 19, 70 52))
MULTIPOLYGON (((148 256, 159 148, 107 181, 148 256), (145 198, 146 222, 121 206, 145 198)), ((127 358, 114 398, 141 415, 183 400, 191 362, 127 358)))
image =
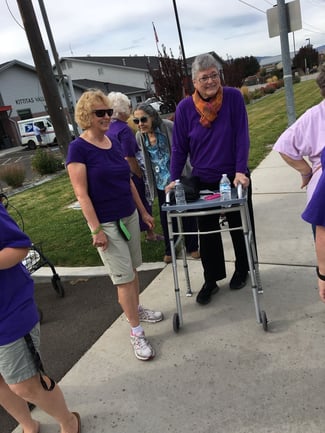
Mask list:
MULTIPOLYGON (((157 111, 146 102, 141 102, 136 106, 133 116, 133 122, 139 129, 136 133, 136 140, 144 156, 150 200, 153 201, 156 196, 158 197, 160 222, 165 240, 163 260, 165 263, 171 263, 167 215, 161 210, 161 206, 166 201, 165 187, 170 182, 173 122, 162 119, 157 111)), ((185 218, 183 224, 187 232, 197 231, 194 218, 185 218)), ((185 236, 185 245, 192 258, 198 259, 200 257, 197 235, 185 236)))

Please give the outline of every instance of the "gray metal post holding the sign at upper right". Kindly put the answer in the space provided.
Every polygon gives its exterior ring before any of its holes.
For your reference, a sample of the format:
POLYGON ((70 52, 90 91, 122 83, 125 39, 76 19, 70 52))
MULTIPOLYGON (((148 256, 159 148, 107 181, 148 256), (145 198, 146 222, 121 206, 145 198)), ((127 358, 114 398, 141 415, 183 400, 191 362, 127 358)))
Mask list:
POLYGON ((288 126, 290 126, 296 120, 296 113, 295 113, 295 103, 294 103, 294 96, 293 96, 291 58, 290 58, 289 39, 288 39, 288 20, 287 20, 285 1, 277 0, 277 5, 278 5, 280 42, 281 42, 281 55, 282 55, 282 65, 283 65, 283 81, 284 81, 286 103, 287 103, 288 126))

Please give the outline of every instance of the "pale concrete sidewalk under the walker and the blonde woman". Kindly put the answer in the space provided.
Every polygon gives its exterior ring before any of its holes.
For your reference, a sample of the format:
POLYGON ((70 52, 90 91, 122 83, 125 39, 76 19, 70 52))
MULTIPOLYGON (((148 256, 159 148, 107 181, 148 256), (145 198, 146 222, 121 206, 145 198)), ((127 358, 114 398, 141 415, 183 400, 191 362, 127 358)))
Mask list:
MULTIPOLYGON (((315 290, 311 228, 300 218, 305 193, 298 174, 275 152, 252 179, 269 332, 256 322, 249 284, 234 292, 223 280, 212 302, 198 305, 201 264, 189 261, 195 293, 185 296, 179 266, 184 324, 174 333, 172 267, 165 266, 141 294, 144 305, 165 314, 159 324, 144 324, 156 358, 134 357, 129 325, 121 316, 60 382, 69 407, 81 414, 83 433, 324 431, 325 306, 315 290)), ((227 233, 228 278, 233 272, 229 238, 227 233)), ((33 415, 42 433, 58 431, 40 410, 33 415)))

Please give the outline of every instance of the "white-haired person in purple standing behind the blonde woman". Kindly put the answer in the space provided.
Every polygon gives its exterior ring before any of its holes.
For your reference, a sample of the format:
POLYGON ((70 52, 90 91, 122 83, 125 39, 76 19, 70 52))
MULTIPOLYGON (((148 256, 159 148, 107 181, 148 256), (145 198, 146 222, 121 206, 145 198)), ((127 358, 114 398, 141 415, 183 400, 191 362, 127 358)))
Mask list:
MULTIPOLYGON (((146 208, 147 212, 152 215, 152 203, 150 203, 150 194, 147 192, 146 179, 141 168, 141 152, 138 143, 135 139, 132 128, 127 123, 131 114, 131 101, 121 92, 110 92, 108 97, 112 103, 113 115, 109 125, 109 133, 115 135, 121 143, 123 154, 129 163, 132 173, 133 183, 139 193, 141 201, 146 208)), ((140 230, 146 231, 146 241, 162 241, 164 237, 154 230, 150 229, 148 225, 142 220, 139 213, 140 230)))

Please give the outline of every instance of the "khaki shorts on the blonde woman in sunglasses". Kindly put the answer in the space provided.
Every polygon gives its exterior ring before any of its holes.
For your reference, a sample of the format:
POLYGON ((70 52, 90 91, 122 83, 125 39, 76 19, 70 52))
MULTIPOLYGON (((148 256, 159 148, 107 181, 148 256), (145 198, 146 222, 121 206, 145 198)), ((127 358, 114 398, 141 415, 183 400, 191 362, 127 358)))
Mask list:
POLYGON ((122 220, 131 234, 131 239, 126 241, 122 237, 115 221, 104 223, 102 227, 108 237, 108 247, 105 251, 100 247, 97 248, 113 284, 117 286, 133 281, 134 269, 142 264, 141 234, 137 210, 122 220))

